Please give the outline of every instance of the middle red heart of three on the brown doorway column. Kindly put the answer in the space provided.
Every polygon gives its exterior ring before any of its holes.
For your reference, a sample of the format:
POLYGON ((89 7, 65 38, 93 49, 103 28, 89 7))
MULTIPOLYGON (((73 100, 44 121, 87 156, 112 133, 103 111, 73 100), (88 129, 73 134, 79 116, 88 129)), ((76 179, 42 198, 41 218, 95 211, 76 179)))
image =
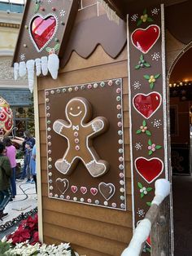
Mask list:
POLYGON ((133 98, 133 107, 142 117, 150 118, 160 107, 162 97, 159 92, 151 92, 148 95, 137 94, 133 98))

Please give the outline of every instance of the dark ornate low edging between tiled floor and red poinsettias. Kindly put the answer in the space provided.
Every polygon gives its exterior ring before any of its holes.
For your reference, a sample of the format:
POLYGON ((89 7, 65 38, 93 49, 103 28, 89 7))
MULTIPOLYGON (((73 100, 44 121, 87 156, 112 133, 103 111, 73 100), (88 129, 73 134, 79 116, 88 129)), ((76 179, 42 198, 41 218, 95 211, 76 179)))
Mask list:
POLYGON ((16 223, 20 223, 21 220, 24 220, 24 219, 28 218, 28 216, 33 215, 33 214, 37 214, 37 207, 34 208, 33 210, 29 210, 26 213, 21 213, 16 218, 13 218, 12 220, 7 221, 7 223, 0 225, 0 232, 5 231, 5 230, 9 229, 10 227, 13 227, 16 223))

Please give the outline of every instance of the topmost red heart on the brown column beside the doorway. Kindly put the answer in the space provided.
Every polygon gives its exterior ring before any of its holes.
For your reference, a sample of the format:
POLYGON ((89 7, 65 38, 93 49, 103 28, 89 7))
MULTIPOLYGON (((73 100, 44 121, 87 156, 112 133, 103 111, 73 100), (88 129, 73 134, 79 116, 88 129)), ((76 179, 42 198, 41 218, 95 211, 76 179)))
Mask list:
POLYGON ((136 29, 131 34, 131 41, 139 51, 146 54, 155 45, 160 36, 160 28, 150 25, 146 29, 136 29))

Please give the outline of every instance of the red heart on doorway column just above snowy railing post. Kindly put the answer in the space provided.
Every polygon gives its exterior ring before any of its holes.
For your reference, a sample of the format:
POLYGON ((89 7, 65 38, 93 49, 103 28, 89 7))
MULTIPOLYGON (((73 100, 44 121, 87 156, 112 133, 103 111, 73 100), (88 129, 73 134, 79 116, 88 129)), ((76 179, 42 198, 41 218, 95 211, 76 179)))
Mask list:
POLYGON ((138 157, 135 160, 135 168, 137 173, 140 174, 147 183, 152 183, 160 174, 162 174, 164 170, 164 163, 156 157, 151 159, 138 157))

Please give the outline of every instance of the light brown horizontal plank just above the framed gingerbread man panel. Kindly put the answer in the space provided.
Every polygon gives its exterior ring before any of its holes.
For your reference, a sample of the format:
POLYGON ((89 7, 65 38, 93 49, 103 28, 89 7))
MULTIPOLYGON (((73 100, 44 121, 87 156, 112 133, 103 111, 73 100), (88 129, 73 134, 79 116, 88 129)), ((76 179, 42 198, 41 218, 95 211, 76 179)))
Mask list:
POLYGON ((120 61, 114 64, 101 65, 97 68, 87 68, 78 71, 72 71, 68 73, 61 73, 57 80, 53 80, 51 77, 39 77, 38 78, 38 90, 51 89, 56 87, 75 85, 87 82, 102 81, 111 79, 114 77, 126 77, 127 76, 127 64, 125 61, 120 61))

